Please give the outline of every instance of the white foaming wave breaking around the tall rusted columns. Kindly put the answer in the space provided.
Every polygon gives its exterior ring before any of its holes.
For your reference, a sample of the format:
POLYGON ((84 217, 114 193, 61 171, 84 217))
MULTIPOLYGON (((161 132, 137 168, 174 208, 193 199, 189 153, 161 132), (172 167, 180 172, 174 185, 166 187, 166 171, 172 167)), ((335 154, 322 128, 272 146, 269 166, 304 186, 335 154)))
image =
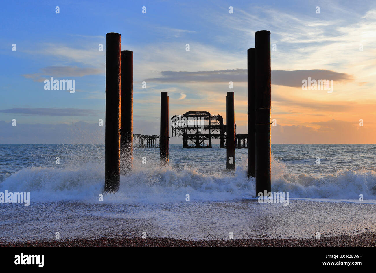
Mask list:
MULTIPOLYGON (((173 167, 147 169, 135 166, 121 176, 117 193, 105 195, 104 202, 168 203, 191 201, 227 201, 255 196, 255 179, 247 179, 246 160, 234 172, 204 174, 196 169, 173 167)), ((0 192, 30 192, 31 202, 82 201, 99 202, 103 193, 104 167, 89 162, 85 166, 30 167, 5 178, 0 192)), ((317 178, 288 173, 285 165, 272 160, 272 191, 289 192, 290 198, 322 199, 343 202, 376 203, 376 172, 360 169, 340 170, 317 178)))

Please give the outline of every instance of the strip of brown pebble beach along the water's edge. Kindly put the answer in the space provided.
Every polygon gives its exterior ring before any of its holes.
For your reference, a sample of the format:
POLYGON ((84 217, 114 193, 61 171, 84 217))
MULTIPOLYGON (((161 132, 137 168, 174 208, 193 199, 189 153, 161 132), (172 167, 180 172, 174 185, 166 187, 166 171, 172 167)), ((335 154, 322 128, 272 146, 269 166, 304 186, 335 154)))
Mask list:
POLYGON ((374 247, 376 232, 333 237, 285 239, 183 240, 173 238, 73 238, 0 241, 0 247, 374 247))

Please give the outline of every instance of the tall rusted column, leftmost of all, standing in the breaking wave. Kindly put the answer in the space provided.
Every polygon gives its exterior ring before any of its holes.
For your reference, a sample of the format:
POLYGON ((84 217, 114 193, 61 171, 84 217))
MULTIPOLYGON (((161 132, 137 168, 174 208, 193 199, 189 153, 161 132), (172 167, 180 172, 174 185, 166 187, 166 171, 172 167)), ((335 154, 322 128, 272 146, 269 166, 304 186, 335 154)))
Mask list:
POLYGON ((105 191, 120 185, 120 74, 121 35, 106 34, 105 191))

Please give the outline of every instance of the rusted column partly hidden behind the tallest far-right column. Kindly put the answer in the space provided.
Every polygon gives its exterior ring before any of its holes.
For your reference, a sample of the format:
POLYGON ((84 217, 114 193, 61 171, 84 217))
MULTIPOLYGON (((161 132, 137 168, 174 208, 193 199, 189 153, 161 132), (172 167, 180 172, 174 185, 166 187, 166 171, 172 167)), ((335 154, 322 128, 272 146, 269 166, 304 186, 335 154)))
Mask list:
POLYGON ((247 50, 248 77, 248 177, 256 176, 255 154, 255 48, 247 50))

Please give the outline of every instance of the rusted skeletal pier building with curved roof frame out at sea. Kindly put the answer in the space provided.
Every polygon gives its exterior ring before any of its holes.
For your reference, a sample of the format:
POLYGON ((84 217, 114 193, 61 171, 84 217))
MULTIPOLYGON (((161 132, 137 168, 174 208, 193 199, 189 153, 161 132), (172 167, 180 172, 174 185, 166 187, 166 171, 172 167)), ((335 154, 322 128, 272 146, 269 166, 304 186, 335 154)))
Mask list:
POLYGON ((226 129, 221 115, 207 111, 188 111, 171 118, 171 136, 182 136, 183 148, 212 148, 212 139, 220 139, 220 147, 226 148, 226 129))

